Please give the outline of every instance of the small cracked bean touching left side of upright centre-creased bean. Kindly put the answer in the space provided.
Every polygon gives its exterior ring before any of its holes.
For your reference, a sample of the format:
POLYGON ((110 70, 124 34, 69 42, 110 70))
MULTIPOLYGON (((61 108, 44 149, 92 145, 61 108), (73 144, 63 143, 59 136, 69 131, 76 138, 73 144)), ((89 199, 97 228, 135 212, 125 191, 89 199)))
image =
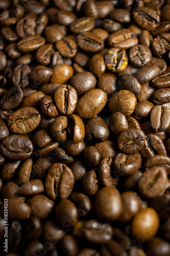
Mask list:
POLYGON ((53 104, 53 99, 51 96, 46 95, 44 96, 40 102, 40 109, 42 114, 48 118, 53 118, 58 116, 58 111, 56 106, 53 104))

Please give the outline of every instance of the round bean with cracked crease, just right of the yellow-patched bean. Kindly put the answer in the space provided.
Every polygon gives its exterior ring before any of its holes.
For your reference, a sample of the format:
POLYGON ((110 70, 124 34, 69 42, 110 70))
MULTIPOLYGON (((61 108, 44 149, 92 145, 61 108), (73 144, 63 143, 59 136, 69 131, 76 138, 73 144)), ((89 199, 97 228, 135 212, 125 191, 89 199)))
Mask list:
POLYGON ((152 53, 147 46, 136 45, 131 47, 129 51, 129 59, 133 65, 143 67, 147 65, 152 58, 152 53))

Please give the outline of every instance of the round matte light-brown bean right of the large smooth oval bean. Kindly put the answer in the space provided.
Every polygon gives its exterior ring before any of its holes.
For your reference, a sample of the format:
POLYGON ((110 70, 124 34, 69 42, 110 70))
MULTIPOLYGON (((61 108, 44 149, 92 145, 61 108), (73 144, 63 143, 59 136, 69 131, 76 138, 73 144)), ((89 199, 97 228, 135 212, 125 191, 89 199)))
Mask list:
POLYGON ((115 93, 109 101, 109 109, 111 112, 121 112, 130 116, 135 110, 136 97, 127 90, 120 90, 115 93))

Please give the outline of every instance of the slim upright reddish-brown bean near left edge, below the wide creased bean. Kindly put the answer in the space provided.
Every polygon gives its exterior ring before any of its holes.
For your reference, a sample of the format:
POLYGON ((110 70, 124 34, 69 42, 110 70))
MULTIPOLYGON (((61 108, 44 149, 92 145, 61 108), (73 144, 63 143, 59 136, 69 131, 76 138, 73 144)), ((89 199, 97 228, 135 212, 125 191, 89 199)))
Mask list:
POLYGON ((30 175, 31 175, 31 170, 33 166, 33 160, 31 158, 27 159, 24 161, 19 170, 18 170, 18 180, 22 183, 25 184, 26 182, 29 181, 30 175))

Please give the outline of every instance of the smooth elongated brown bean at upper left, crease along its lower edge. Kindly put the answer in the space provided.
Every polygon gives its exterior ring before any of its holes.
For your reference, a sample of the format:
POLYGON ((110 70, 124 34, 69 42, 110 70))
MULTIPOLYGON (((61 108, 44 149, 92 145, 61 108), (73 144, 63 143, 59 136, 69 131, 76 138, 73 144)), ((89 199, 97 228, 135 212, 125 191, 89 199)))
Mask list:
POLYGON ((31 35, 23 38, 17 44, 18 50, 24 53, 33 52, 45 44, 42 36, 31 35))

